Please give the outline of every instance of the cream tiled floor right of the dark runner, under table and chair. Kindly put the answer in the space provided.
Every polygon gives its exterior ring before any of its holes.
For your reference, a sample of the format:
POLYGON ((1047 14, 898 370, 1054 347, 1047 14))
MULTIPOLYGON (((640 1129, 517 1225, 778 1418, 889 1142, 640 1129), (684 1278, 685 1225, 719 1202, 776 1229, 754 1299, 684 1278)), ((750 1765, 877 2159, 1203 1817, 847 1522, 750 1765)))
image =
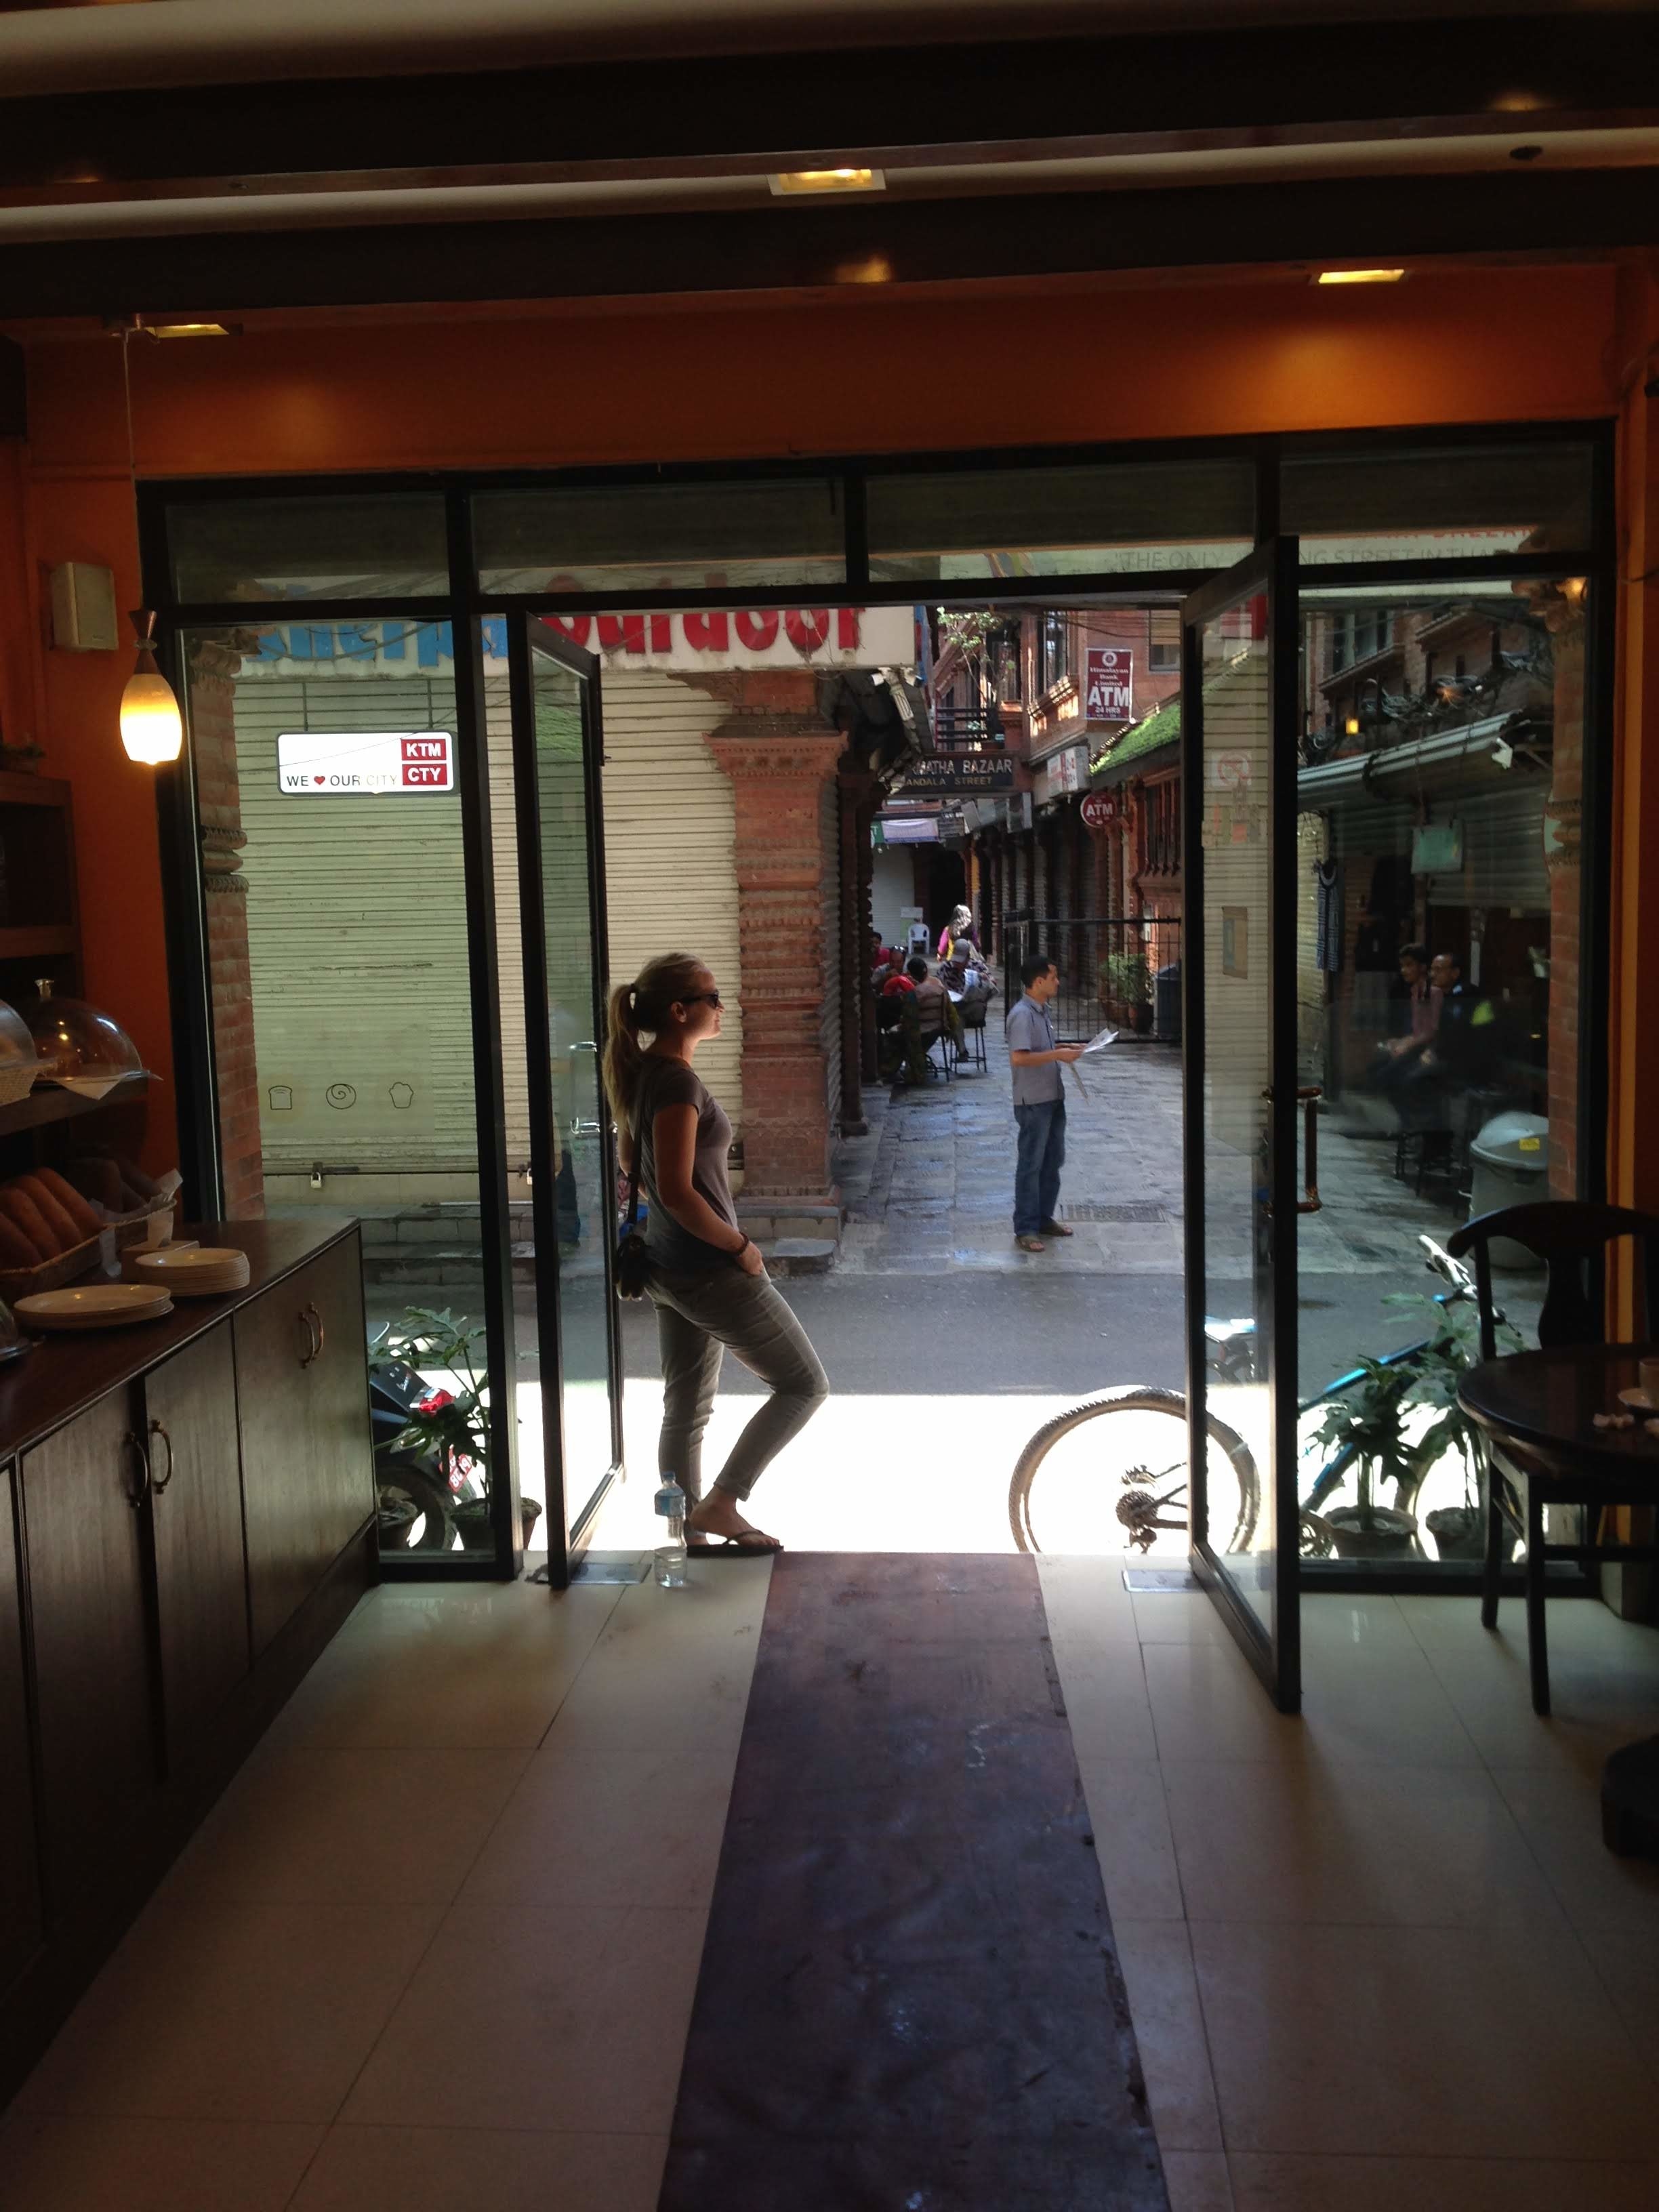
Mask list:
POLYGON ((1601 1847, 1599 1759, 1659 1730, 1659 1630, 1314 1597, 1272 1712, 1206 1597, 1044 1559, 1177 2212, 1659 2203, 1659 1867, 1601 1847))

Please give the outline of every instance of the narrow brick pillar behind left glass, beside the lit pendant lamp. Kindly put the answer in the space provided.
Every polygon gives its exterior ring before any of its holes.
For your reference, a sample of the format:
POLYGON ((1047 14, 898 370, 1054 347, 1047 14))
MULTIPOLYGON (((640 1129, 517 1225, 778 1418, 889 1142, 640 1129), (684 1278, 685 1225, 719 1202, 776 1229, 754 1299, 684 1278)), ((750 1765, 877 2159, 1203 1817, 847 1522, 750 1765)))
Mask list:
POLYGON ((237 781, 237 677, 243 633, 201 639, 190 653, 190 750, 201 821, 201 887, 208 916, 212 1060, 219 1095, 219 1166, 230 1221, 265 1212, 259 1146, 254 998, 248 973, 248 885, 241 878, 241 785, 237 781))

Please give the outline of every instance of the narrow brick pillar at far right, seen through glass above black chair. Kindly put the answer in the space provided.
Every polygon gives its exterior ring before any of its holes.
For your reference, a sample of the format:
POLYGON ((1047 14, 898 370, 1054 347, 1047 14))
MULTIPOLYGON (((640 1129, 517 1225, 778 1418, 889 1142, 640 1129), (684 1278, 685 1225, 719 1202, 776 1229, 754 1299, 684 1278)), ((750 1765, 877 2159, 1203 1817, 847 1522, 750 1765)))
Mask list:
POLYGON ((1579 1192, 1579 902, 1584 799, 1584 608, 1544 599, 1555 641, 1555 743, 1544 807, 1544 858, 1551 878, 1548 1124, 1551 1197, 1579 1192))

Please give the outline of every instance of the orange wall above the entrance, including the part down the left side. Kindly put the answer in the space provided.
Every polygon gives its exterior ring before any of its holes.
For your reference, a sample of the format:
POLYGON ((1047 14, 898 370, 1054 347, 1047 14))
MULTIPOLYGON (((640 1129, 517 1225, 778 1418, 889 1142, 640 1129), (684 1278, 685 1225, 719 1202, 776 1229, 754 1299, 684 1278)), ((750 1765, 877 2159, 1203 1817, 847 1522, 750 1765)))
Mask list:
MULTIPOLYGON (((1283 276, 252 319, 234 341, 133 349, 137 465, 553 467, 1613 416, 1632 281, 1586 265, 1323 292, 1283 276)), ((170 1073, 150 776, 113 737, 128 659, 44 653, 38 626, 40 571, 60 560, 113 564, 137 604, 119 349, 15 334, 31 442, 11 476, 0 465, 0 710, 9 730, 33 719, 46 768, 75 783, 88 989, 170 1073)), ((1635 931, 1659 975, 1652 876, 1635 931)))

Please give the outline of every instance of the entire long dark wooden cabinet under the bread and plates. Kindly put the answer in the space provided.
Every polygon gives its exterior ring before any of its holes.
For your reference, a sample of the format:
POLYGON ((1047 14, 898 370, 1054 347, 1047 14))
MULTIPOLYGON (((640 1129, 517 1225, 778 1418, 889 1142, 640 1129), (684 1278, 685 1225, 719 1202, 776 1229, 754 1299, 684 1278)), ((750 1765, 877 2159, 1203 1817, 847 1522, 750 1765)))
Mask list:
POLYGON ((376 1577, 356 1232, 195 1234, 246 1290, 0 1367, 0 2104, 376 1577))

